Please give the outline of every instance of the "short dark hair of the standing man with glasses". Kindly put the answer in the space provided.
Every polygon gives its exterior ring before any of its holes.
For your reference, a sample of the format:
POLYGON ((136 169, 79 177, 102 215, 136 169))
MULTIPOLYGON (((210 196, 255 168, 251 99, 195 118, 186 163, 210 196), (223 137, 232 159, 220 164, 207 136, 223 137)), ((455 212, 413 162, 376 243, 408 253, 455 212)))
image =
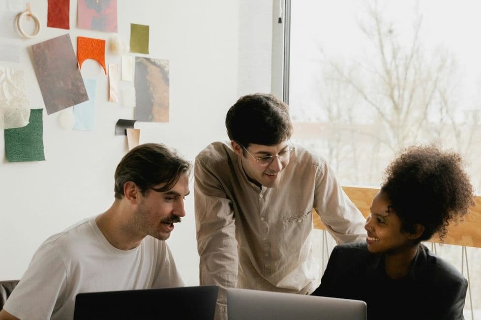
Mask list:
POLYGON ((229 139, 244 147, 277 145, 293 131, 288 106, 264 93, 240 97, 227 112, 225 126, 229 139))

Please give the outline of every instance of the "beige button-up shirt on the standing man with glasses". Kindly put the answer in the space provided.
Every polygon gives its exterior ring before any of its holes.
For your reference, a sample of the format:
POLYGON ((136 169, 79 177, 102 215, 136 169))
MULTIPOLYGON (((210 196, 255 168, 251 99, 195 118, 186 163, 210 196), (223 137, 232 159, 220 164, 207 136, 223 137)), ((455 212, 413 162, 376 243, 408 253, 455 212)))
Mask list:
MULTIPOLYGON (((279 183, 260 188, 230 143, 199 153, 194 201, 200 283, 309 294, 320 284, 312 208, 339 243, 364 240, 365 219, 322 157, 296 145, 279 183)), ((225 313, 225 296, 219 295, 225 313)), ((223 317, 225 318, 225 317, 223 317)))

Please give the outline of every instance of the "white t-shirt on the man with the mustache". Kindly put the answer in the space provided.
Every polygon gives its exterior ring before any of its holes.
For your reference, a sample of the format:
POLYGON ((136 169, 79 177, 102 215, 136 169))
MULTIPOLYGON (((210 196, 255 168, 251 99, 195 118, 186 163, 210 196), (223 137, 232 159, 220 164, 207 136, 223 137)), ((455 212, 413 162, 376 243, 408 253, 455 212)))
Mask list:
POLYGON ((120 250, 92 217, 42 243, 3 309, 22 320, 73 319, 80 292, 183 285, 165 241, 147 236, 137 248, 120 250))

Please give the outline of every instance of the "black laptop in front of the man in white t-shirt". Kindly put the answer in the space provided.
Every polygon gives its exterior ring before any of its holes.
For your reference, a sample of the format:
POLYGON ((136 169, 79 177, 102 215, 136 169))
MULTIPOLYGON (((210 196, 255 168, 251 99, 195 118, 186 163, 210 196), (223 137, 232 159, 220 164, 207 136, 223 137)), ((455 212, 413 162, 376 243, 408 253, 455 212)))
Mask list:
POLYGON ((78 293, 74 320, 214 319, 217 286, 78 293))

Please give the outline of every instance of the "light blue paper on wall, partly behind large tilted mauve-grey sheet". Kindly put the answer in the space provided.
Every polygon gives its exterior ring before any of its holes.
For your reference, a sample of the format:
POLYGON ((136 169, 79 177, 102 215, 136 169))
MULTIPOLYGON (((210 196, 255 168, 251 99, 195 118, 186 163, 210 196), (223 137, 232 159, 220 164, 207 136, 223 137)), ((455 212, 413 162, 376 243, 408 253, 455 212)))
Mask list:
POLYGON ((75 122, 74 130, 93 130, 95 126, 95 96, 97 94, 97 80, 86 79, 85 87, 89 100, 73 106, 75 122))

